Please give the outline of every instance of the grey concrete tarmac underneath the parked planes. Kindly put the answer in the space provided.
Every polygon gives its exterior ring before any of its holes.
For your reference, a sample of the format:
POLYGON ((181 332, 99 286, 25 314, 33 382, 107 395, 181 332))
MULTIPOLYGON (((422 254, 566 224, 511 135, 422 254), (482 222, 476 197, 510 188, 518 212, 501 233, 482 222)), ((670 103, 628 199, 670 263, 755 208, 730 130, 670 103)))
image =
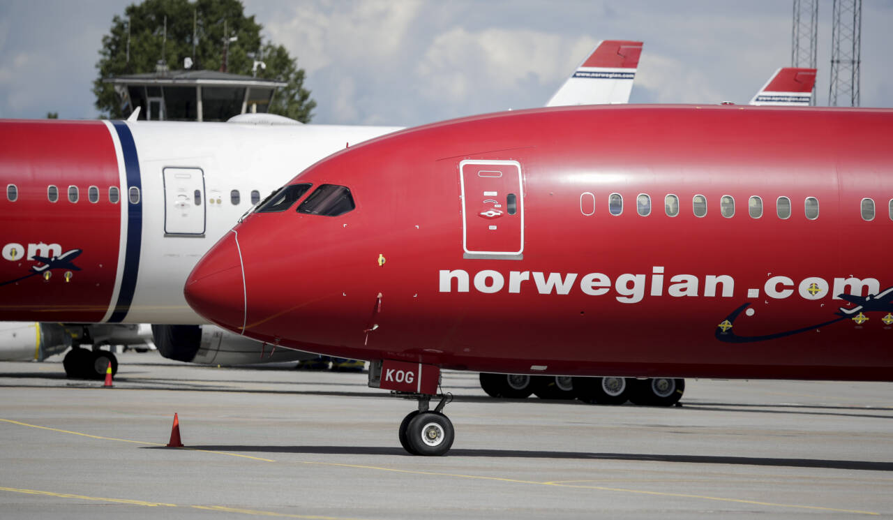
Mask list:
POLYGON ((595 407, 446 373, 453 449, 412 457, 414 401, 365 374, 119 359, 113 389, 0 363, 0 517, 893 516, 889 383, 688 380, 682 407, 595 407))

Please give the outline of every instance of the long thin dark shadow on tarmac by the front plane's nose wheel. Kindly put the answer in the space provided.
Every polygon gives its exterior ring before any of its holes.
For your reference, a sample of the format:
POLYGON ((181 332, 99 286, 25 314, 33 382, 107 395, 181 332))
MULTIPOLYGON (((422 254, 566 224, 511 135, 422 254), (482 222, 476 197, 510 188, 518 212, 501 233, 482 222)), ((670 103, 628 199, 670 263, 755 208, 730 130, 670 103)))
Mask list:
MULTIPOLYGON (((412 457, 400 448, 373 446, 250 446, 205 445, 188 449, 253 453, 298 453, 313 455, 389 455, 412 457)), ((169 449, 145 446, 140 449, 169 449)), ((893 462, 863 460, 827 460, 817 458, 725 457, 711 455, 655 455, 638 453, 591 453, 586 451, 533 451, 523 449, 461 449, 454 448, 449 457, 506 457, 506 458, 563 458, 584 460, 634 460, 643 462, 684 462, 689 464, 763 465, 779 467, 813 467, 862 471, 893 471, 893 462)))

